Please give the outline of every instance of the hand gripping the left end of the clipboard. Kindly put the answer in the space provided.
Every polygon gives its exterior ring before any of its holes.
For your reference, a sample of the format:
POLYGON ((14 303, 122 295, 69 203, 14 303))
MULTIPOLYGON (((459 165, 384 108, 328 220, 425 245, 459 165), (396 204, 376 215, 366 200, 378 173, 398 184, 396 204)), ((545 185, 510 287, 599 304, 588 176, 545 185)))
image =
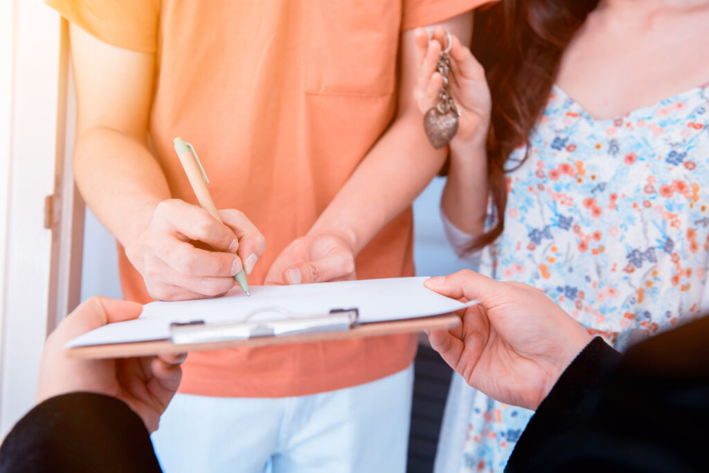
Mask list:
POLYGON ((91 297, 47 338, 40 363, 37 403, 70 392, 95 392, 121 399, 148 431, 154 432, 182 379, 185 354, 118 360, 82 360, 67 354, 65 343, 109 323, 135 319, 135 302, 91 297))

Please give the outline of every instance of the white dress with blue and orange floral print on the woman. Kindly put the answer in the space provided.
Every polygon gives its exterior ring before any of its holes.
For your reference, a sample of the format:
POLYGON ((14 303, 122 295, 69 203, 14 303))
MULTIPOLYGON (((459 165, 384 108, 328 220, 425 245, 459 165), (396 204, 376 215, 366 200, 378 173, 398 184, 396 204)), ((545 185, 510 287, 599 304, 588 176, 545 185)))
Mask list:
MULTIPOLYGON (((506 226, 479 270, 544 290, 623 349, 698 315, 709 255, 709 84, 596 120, 554 87, 508 160, 506 226)), ((707 304, 707 300, 704 304, 707 304)), ((457 389, 471 389, 454 383, 457 389)), ((501 472, 532 411, 477 394, 461 471, 501 472)), ((443 439, 445 440, 445 439, 443 439)))

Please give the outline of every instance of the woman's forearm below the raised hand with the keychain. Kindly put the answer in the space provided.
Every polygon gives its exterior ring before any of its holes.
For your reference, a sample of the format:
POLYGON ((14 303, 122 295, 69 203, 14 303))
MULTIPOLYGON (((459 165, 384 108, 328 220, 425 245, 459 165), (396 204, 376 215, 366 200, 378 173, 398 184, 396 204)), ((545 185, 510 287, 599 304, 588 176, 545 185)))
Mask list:
POLYGON ((445 216, 470 235, 484 232, 489 196, 484 144, 451 147, 448 179, 441 197, 445 216))

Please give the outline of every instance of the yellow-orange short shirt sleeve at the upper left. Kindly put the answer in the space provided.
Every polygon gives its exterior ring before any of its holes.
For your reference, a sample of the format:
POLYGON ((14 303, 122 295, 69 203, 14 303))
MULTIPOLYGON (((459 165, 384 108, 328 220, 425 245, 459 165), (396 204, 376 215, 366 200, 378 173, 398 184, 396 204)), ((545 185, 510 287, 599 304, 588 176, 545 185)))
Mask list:
POLYGON ((160 0, 45 0, 67 21, 110 45, 157 50, 160 0))

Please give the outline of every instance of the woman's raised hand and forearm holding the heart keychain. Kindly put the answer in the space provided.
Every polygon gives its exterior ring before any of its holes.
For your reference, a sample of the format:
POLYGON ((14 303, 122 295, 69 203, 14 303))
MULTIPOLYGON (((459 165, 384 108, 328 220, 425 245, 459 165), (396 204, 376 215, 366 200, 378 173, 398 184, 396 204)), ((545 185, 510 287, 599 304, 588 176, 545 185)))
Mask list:
MULTIPOLYGON (((436 28, 432 39, 421 28, 415 31, 418 70, 414 94, 421 113, 436 105, 443 81, 436 64, 441 47, 447 42, 445 30, 436 28)), ((459 127, 450 142, 450 169, 441 207, 456 227, 475 235, 484 230, 489 195, 485 145, 490 126, 490 90, 483 67, 454 34, 449 56, 456 79, 450 77, 450 86, 459 127)))

